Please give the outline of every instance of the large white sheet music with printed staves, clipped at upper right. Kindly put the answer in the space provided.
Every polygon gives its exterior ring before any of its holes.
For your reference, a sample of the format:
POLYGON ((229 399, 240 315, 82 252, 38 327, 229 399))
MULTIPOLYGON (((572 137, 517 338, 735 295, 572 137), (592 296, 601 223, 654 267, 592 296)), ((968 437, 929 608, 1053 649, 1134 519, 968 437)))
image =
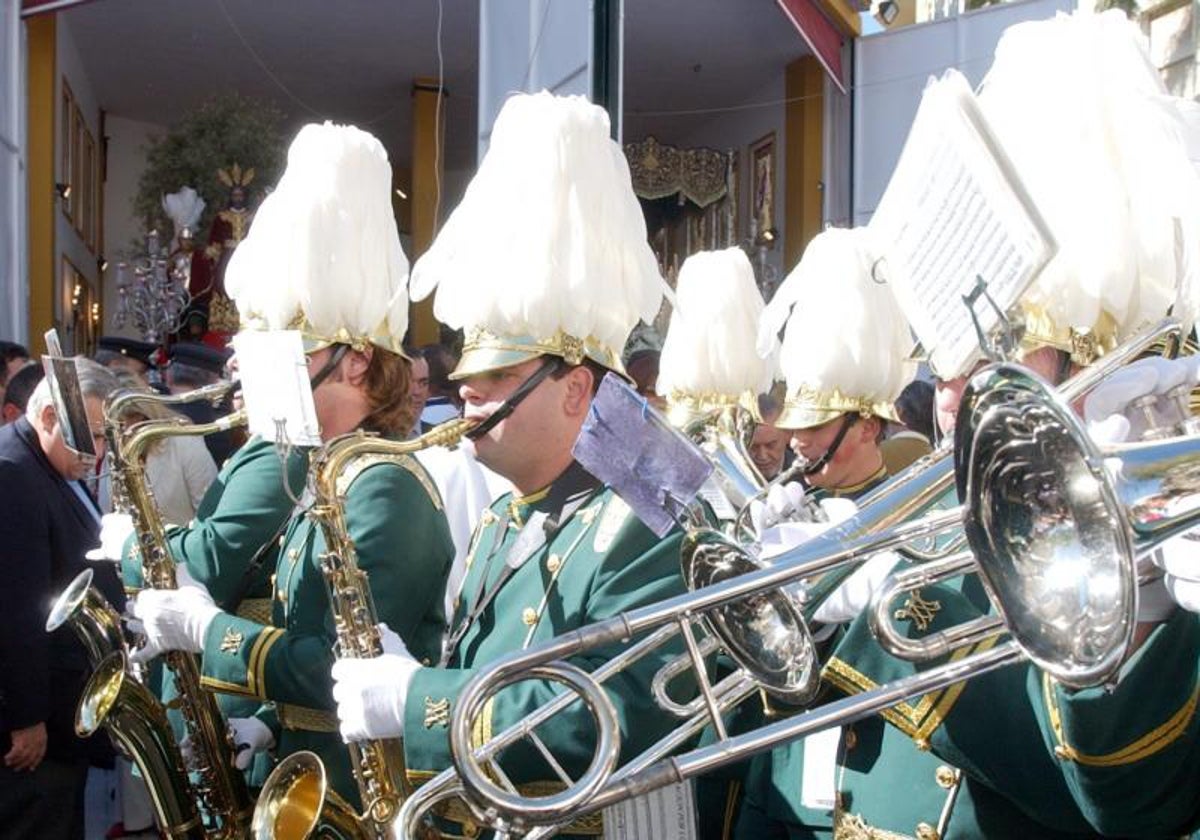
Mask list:
POLYGON ((977 278, 996 304, 974 307, 990 334, 1056 250, 970 84, 953 70, 925 88, 869 227, 883 254, 878 280, 893 286, 930 366, 946 378, 980 356, 962 300, 977 278))

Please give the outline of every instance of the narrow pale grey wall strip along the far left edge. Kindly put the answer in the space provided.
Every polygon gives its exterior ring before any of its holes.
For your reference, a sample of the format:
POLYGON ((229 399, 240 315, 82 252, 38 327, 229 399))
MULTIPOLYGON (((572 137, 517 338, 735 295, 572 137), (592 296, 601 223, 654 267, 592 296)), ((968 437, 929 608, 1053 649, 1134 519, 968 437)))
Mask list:
POLYGON ((25 25, 0 2, 0 338, 29 346, 25 25))

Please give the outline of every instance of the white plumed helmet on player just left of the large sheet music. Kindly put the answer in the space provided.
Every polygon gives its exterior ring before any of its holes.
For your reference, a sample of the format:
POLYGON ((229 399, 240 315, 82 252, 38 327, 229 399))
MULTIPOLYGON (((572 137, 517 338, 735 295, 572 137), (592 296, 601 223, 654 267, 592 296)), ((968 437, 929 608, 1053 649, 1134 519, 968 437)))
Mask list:
POLYGON ((817 234, 763 312, 761 354, 786 322, 780 428, 810 428, 850 412, 895 418, 893 403, 916 374, 912 335, 892 288, 872 276, 876 253, 866 228, 817 234))

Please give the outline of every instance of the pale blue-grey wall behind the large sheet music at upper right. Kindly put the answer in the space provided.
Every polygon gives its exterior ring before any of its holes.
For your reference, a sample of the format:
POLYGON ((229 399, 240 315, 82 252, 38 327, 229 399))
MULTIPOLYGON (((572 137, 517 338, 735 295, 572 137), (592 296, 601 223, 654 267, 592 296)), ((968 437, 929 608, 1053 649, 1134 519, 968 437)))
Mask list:
POLYGON ((1004 29, 1074 7, 1075 0, 1021 0, 860 38, 854 53, 854 223, 865 224, 875 212, 929 77, 956 67, 978 85, 1004 29))

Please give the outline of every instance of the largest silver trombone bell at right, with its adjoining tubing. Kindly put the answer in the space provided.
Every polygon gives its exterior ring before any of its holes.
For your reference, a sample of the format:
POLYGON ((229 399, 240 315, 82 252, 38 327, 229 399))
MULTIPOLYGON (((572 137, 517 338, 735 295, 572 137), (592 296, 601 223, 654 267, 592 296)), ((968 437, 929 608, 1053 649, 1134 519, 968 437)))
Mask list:
POLYGON ((1200 437, 1190 422, 1148 430, 1146 443, 1097 446, 1070 407, 1027 370, 1000 365, 964 391, 955 446, 964 530, 947 560, 898 572, 868 618, 889 653, 923 661, 1007 630, 1058 682, 1109 682, 1126 659, 1141 562, 1200 516, 1200 437), (890 623, 892 599, 978 572, 998 614, 923 640, 890 623))

